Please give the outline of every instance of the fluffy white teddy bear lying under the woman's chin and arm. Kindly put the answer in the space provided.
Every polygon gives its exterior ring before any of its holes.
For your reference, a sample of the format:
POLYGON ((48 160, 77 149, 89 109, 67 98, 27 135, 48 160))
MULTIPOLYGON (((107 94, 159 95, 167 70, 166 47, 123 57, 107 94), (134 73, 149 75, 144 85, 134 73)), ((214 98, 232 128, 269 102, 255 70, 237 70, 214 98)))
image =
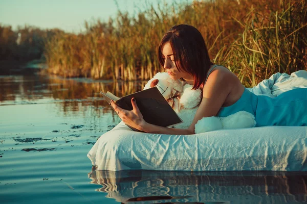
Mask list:
MULTIPOLYGON (((187 129, 193 121, 200 104, 202 91, 192 89, 192 85, 179 80, 172 80, 166 72, 158 72, 147 82, 144 89, 157 86, 169 105, 183 120, 182 123, 173 125, 179 129, 187 129)), ((195 134, 221 129, 238 129, 254 127, 255 117, 246 111, 239 111, 227 117, 204 117, 195 124, 195 134)))

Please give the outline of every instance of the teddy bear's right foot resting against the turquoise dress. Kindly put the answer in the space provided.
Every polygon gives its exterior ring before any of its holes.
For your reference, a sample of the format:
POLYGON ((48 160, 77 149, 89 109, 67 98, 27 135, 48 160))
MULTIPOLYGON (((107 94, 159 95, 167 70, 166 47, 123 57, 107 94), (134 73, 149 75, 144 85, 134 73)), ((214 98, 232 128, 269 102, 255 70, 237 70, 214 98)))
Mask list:
POLYGON ((255 116, 246 111, 239 111, 221 118, 223 129, 240 129, 256 126, 255 116))

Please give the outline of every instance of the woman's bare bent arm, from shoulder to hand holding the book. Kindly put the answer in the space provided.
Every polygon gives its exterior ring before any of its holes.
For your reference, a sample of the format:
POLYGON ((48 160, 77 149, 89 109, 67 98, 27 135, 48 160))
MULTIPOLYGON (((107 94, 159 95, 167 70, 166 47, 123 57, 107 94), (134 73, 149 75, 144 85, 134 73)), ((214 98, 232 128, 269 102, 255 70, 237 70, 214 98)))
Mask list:
POLYGON ((223 69, 212 71, 204 86, 201 104, 188 129, 174 129, 147 123, 143 119, 134 98, 131 99, 131 104, 133 106, 133 110, 131 111, 116 106, 113 101, 111 101, 111 105, 125 124, 135 127, 138 130, 146 133, 191 135, 194 134, 195 124, 200 119, 203 117, 215 116, 224 104, 232 85, 231 78, 229 78, 229 73, 231 72, 228 72, 229 71, 223 69))

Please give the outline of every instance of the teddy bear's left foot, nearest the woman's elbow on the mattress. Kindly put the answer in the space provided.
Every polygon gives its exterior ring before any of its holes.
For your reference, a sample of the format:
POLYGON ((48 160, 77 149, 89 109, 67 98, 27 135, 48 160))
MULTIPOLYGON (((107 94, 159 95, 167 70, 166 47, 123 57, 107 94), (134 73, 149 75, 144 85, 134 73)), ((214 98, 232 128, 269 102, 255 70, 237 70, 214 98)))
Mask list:
POLYGON ((195 124, 195 134, 206 133, 222 129, 222 122, 218 117, 204 117, 195 124))

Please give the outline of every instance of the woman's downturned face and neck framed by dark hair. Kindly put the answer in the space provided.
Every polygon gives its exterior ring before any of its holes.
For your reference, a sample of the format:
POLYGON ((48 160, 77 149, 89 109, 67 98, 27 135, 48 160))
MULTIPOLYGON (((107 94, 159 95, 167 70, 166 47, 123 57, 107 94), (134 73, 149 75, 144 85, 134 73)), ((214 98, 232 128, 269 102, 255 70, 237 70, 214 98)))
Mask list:
POLYGON ((187 72, 179 71, 175 65, 174 55, 169 42, 162 47, 162 58, 164 59, 164 69, 166 69, 169 77, 173 80, 183 78, 185 80, 193 80, 193 76, 187 72))

